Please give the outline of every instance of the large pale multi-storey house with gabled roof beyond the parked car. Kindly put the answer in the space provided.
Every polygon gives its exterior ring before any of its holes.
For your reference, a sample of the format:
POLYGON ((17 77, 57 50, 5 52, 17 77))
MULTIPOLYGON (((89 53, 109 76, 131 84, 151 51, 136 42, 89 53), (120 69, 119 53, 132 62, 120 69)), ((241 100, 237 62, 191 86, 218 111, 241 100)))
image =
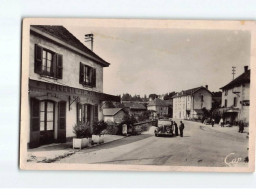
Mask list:
POLYGON ((181 91, 173 96, 173 118, 201 119, 203 108, 208 111, 212 108, 212 93, 207 85, 181 91))

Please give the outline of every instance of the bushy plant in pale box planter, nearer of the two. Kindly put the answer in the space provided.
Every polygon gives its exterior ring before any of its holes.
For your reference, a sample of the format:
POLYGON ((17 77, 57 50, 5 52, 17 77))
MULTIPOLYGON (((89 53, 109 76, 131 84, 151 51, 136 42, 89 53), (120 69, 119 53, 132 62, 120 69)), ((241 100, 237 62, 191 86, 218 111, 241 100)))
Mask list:
POLYGON ((76 135, 73 138, 73 149, 82 149, 89 145, 90 126, 88 123, 78 123, 73 127, 73 132, 76 135))

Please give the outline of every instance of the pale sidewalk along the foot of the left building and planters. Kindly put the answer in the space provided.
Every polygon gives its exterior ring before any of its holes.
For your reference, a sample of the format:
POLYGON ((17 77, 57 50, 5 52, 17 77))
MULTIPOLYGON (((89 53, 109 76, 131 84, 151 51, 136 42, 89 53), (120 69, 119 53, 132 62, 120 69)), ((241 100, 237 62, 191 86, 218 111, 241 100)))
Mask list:
MULTIPOLYGON (((125 138, 125 136, 121 135, 104 135, 104 144, 113 142, 115 140, 120 140, 125 138)), ((97 137, 95 135, 92 136, 92 140, 94 143, 97 143, 97 137)), ((102 144, 101 144, 102 145, 102 144)), ((89 146, 89 148, 97 147, 98 144, 94 144, 89 146)), ((83 150, 86 150, 84 148, 83 150)), ((56 160, 65 158, 67 156, 73 155, 78 152, 79 149, 73 149, 72 141, 66 143, 53 143, 44 146, 40 146, 38 148, 28 149, 27 152, 27 162, 32 163, 51 163, 56 160)))

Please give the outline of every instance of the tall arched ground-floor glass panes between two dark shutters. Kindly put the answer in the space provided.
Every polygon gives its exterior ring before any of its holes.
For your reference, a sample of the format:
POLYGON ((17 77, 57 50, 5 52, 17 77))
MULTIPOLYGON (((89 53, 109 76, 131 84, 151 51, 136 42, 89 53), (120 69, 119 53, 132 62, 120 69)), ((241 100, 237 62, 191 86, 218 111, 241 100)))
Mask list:
POLYGON ((40 102, 40 131, 54 130, 54 102, 40 102))

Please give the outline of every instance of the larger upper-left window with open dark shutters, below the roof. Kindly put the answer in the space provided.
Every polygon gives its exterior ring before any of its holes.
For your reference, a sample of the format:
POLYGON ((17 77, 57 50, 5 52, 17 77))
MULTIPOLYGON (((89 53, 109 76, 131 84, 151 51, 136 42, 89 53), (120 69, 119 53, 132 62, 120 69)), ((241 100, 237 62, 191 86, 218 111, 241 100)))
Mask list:
POLYGON ((35 45, 35 73, 62 79, 62 55, 35 45))

